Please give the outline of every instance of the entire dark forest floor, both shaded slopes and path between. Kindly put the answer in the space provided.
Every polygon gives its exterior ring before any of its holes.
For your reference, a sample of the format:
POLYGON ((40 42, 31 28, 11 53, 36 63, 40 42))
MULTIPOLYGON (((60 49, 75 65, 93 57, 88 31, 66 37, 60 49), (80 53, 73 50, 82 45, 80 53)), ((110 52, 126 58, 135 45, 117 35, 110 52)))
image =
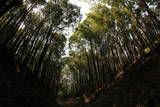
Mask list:
POLYGON ((79 98, 57 98, 57 105, 38 88, 18 81, 9 59, 0 49, 0 107, 160 107, 160 56, 155 53, 133 64, 88 104, 79 98))

